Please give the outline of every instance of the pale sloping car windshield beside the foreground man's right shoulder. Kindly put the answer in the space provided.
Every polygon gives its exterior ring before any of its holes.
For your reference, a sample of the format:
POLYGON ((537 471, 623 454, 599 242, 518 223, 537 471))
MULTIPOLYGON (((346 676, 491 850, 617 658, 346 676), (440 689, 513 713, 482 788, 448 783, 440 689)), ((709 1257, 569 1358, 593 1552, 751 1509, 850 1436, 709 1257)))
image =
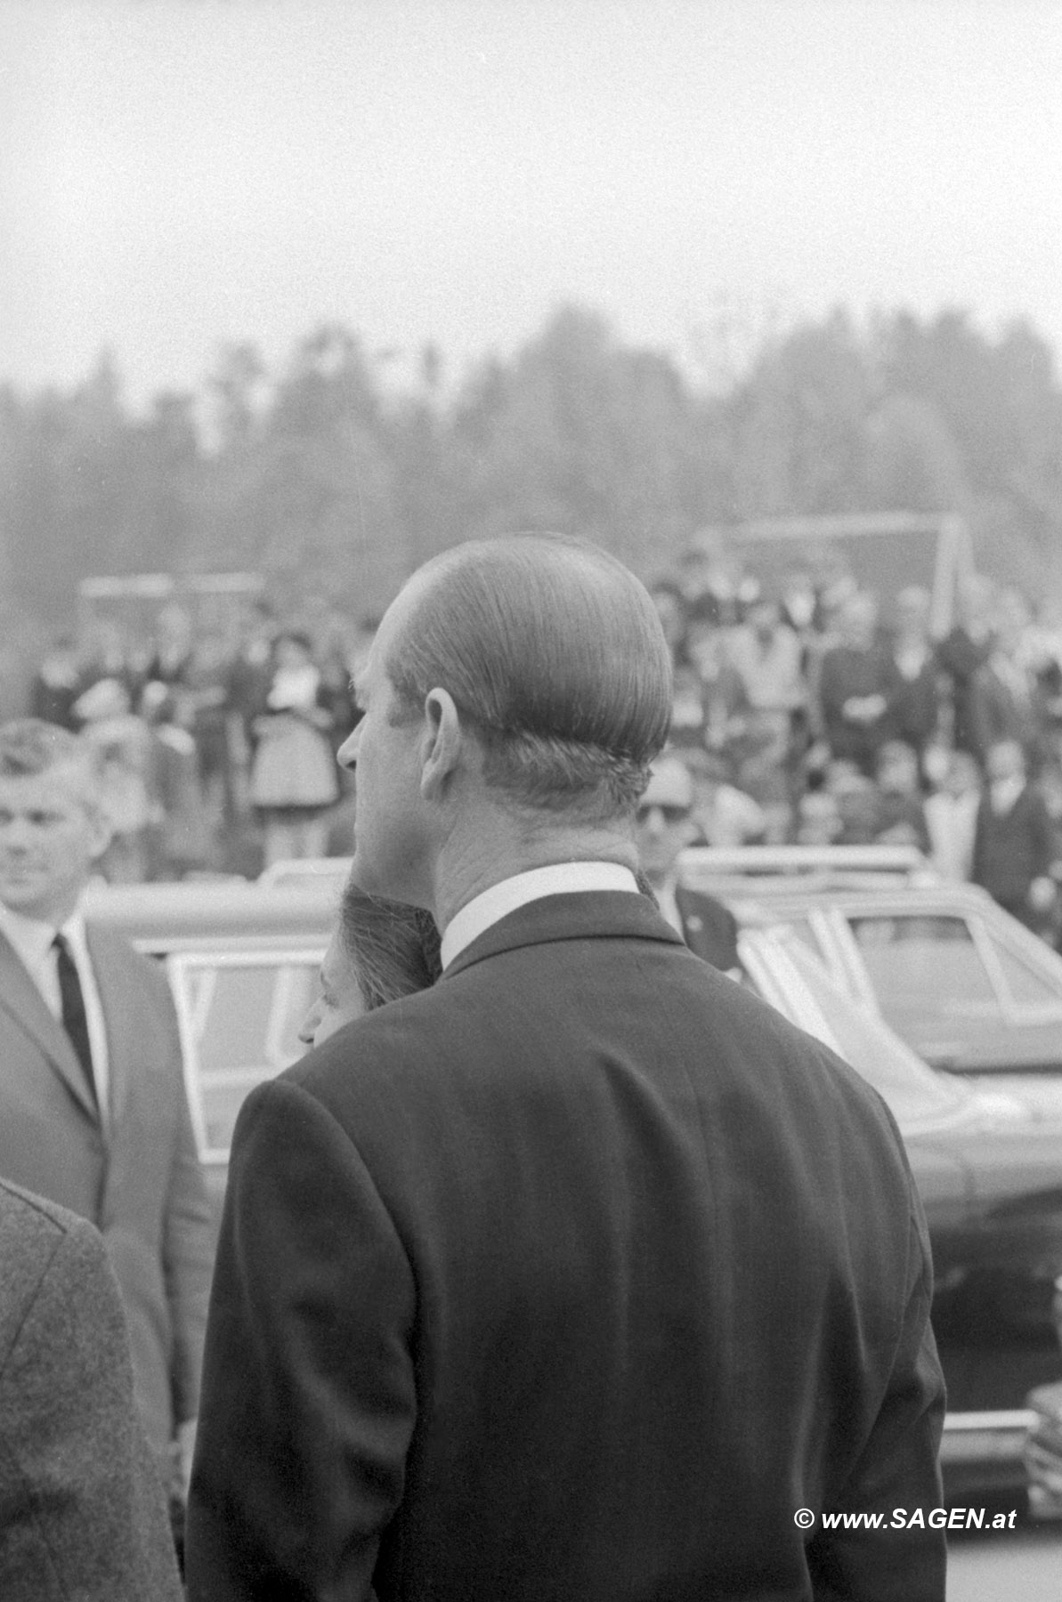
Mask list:
POLYGON ((951 1118, 964 1107, 959 1085, 934 1073, 899 1035, 838 990, 803 940, 786 937, 783 944, 833 1032, 839 1054, 884 1096, 903 1129, 951 1118))

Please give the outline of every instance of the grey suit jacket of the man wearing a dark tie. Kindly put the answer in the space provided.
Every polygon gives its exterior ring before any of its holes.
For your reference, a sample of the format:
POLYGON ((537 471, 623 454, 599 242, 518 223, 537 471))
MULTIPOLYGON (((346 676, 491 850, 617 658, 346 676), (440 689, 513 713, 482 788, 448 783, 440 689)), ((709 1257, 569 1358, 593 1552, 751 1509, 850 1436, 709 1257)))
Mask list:
POLYGON ((74 1048, 0 936, 0 1176, 90 1219, 119 1278, 147 1439, 195 1416, 210 1291, 210 1211, 165 977, 88 929, 111 1065, 101 1126, 74 1048))

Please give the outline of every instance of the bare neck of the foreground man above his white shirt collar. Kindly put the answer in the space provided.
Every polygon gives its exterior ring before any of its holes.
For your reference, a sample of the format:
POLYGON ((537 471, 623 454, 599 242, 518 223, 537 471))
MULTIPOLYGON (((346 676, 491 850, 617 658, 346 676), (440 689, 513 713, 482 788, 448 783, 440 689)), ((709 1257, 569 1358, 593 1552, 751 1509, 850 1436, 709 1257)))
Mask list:
POLYGON ((551 825, 549 815, 527 823, 498 815, 465 823, 439 852, 434 913, 445 932, 461 907, 503 879, 559 862, 617 862, 638 871, 638 854, 623 823, 601 827, 551 825))

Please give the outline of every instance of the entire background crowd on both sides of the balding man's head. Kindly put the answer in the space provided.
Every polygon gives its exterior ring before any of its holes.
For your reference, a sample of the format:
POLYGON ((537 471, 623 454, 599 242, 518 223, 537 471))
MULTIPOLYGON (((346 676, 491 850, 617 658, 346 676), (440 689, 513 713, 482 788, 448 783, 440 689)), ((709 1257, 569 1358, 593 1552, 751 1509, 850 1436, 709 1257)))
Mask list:
MULTIPOLYGON (((934 638, 927 590, 881 604, 836 561, 761 583, 687 559, 652 594, 694 839, 911 844, 1059 942, 1062 628, 972 575, 934 638)), ((109 879, 253 876, 351 852, 335 753, 373 622, 322 617, 292 626, 255 602, 223 638, 171 604, 147 644, 98 622, 48 652, 26 710, 101 755, 109 879)))

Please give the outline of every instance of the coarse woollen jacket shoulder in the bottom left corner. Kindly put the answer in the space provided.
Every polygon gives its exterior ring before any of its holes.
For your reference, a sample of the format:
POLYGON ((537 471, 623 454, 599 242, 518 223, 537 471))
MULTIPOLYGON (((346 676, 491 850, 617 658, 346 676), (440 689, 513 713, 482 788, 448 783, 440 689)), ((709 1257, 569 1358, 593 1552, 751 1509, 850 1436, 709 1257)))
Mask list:
POLYGON ((0 1182, 0 1596, 179 1602, 98 1234, 0 1182))

